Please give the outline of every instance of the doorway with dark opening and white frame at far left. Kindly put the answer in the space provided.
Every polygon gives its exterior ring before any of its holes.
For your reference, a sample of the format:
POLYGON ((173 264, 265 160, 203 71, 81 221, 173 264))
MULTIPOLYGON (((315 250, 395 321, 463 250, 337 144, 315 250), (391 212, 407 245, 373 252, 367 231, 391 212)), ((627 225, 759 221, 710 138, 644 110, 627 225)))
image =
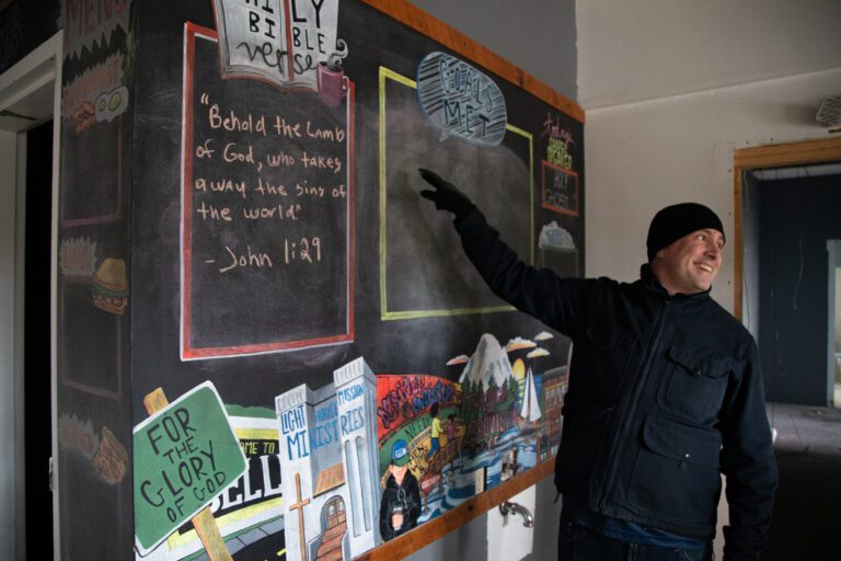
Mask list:
POLYGON ((59 32, 0 75, 1 559, 56 558, 53 119, 61 44, 59 32))

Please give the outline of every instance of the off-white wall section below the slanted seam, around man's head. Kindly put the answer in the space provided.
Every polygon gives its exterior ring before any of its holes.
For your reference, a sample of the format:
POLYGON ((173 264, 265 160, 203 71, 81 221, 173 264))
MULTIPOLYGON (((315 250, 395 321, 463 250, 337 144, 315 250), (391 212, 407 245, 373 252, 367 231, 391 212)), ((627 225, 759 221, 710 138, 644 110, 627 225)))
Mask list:
MULTIPOLYGON (((588 276, 636 278, 648 224, 672 203, 710 206, 731 241, 734 149, 826 138, 814 115, 821 99, 839 91, 841 66, 587 112, 588 276)), ((713 297, 733 311, 728 249, 713 297)))

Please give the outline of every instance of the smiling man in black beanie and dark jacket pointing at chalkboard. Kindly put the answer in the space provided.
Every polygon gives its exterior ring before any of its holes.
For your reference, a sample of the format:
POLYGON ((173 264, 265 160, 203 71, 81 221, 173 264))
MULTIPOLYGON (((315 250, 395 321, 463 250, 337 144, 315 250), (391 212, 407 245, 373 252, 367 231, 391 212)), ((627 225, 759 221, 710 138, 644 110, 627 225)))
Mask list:
POLYGON ((561 278, 520 261, 468 197, 419 171, 435 187, 422 195, 456 215, 491 289, 573 340, 558 559, 711 559, 724 473, 724 558, 758 560, 776 463, 756 343, 710 297, 725 242, 715 213, 657 213, 634 283, 561 278))

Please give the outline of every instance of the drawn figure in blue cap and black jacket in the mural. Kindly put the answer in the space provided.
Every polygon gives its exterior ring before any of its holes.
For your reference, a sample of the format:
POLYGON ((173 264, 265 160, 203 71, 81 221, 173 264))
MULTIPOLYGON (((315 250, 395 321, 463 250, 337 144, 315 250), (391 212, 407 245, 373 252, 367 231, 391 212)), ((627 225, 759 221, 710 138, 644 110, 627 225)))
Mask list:
POLYGON ((391 465, 380 502, 380 535, 388 541, 417 526, 420 490, 408 469, 408 447, 403 439, 391 448, 391 465))

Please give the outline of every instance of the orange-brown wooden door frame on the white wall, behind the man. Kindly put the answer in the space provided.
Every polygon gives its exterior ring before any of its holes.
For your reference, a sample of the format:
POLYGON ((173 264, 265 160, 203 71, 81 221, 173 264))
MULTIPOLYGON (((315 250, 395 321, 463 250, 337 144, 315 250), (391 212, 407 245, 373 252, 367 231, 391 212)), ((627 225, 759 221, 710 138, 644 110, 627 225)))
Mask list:
POLYGON ((841 162, 841 137, 742 148, 733 153, 733 312, 741 320, 745 248, 742 240, 742 178, 746 171, 841 162))

